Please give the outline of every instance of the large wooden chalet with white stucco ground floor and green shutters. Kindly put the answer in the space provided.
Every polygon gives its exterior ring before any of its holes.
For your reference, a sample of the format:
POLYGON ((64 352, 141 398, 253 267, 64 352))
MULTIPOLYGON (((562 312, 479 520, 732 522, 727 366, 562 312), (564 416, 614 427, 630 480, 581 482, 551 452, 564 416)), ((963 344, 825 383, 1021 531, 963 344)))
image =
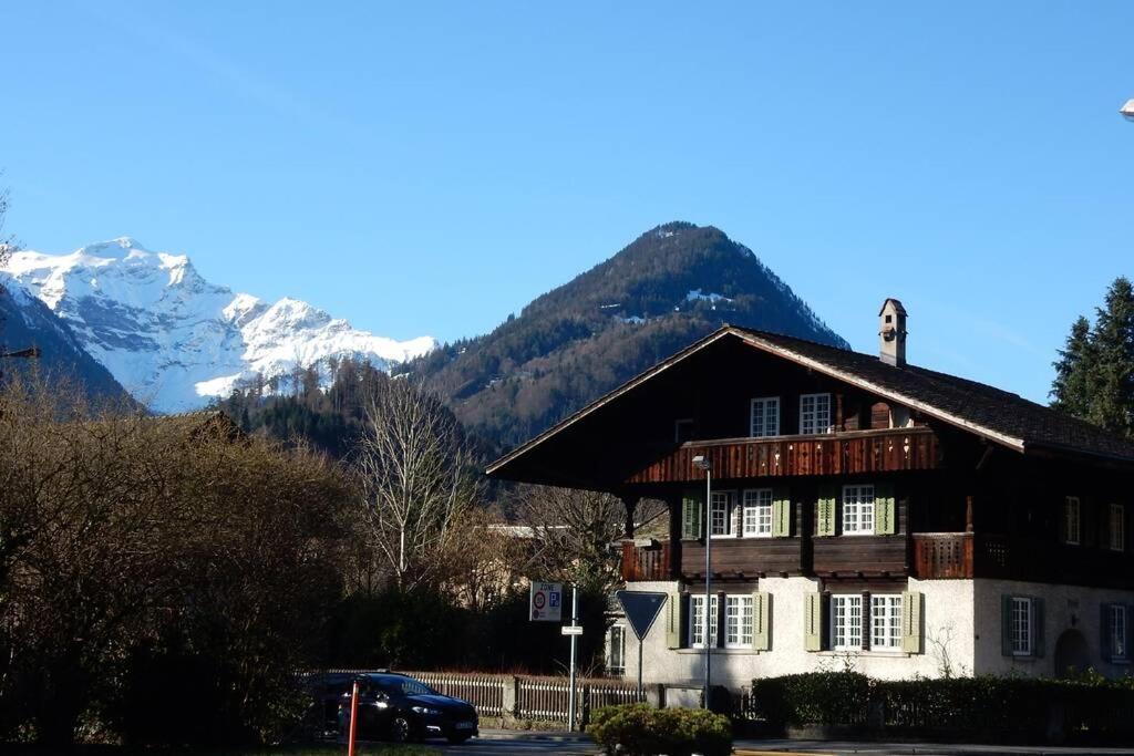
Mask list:
POLYGON ((624 545, 627 587, 669 595, 648 682, 702 679, 706 644, 733 688, 844 665, 1134 671, 1134 444, 907 364, 896 299, 879 321, 877 356, 721 328, 489 473, 615 493, 629 521, 642 498, 668 503, 667 542, 624 545))

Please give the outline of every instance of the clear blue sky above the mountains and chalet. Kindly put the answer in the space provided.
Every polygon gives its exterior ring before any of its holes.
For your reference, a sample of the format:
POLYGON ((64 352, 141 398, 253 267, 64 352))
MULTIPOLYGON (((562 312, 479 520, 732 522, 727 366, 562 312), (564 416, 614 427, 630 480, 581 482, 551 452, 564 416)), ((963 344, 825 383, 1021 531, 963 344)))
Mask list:
POLYGON ((1134 3, 558 5, 0 5, 7 230, 450 340, 687 220, 1035 400, 1134 275, 1134 3))

